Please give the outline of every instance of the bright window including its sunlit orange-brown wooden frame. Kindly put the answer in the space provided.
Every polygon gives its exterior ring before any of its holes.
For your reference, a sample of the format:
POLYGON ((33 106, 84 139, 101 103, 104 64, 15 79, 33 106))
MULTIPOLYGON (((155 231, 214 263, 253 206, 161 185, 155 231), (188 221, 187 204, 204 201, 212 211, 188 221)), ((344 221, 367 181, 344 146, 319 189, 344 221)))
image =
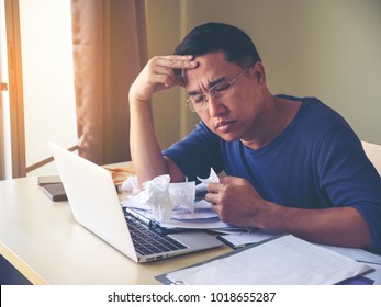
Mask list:
MULTIPOLYGON (((13 35, 13 39, 8 42, 14 43, 12 46, 8 43, 8 62, 15 62, 21 75, 14 77, 12 73, 18 75, 18 71, 9 66, 11 107, 9 112, 3 112, 2 123, 0 121, 0 133, 3 135, 3 158, 0 163, 7 169, 11 159, 14 178, 33 173, 49 160, 49 140, 66 148, 77 145, 71 12, 70 0, 0 1, 5 3, 7 36, 13 35), (11 33, 10 24, 13 24, 13 30, 19 25, 19 33, 11 33), (15 56, 18 53, 19 57, 15 56), (16 84, 12 84, 12 78, 16 84), (12 87, 16 96, 12 95, 12 87), (11 123, 9 129, 8 117, 11 123), (10 152, 5 151, 9 134, 11 158, 10 152)), ((7 103, 2 100, 2 105, 7 103)), ((3 177, 9 178, 9 171, 3 172, 3 177)))

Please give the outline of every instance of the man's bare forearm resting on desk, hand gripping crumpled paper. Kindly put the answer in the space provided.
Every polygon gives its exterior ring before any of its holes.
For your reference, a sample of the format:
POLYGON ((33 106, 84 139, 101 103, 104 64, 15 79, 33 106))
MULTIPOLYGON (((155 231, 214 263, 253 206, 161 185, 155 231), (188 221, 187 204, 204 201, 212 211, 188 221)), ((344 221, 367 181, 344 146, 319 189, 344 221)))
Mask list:
POLYGON ((267 202, 240 178, 227 177, 210 183, 205 200, 222 220, 242 227, 257 227, 292 234, 309 241, 369 248, 370 230, 356 208, 303 209, 267 202))

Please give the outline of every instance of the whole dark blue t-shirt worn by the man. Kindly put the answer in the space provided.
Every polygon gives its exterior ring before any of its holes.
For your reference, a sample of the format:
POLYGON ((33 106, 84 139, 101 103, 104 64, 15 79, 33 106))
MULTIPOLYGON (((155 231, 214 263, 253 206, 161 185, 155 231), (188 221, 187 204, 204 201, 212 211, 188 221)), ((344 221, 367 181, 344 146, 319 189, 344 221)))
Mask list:
POLYGON ((270 144, 253 150, 225 141, 204 123, 164 155, 189 180, 218 173, 247 179, 268 201, 299 208, 352 206, 381 252, 381 179, 348 123, 315 98, 302 101, 291 124, 270 144))

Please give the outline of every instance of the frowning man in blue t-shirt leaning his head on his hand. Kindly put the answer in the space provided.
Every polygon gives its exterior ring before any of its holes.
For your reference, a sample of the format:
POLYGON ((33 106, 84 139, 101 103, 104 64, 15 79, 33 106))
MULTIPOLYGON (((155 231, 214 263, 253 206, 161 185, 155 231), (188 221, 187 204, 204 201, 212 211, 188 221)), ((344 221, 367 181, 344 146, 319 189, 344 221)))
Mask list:
POLYGON ((139 182, 225 171, 205 195, 222 220, 381 252, 381 180, 360 140, 317 99, 272 95, 239 29, 203 24, 175 55, 154 57, 130 89, 130 110, 139 182), (148 102, 175 86, 187 89, 201 122, 161 152, 148 102))

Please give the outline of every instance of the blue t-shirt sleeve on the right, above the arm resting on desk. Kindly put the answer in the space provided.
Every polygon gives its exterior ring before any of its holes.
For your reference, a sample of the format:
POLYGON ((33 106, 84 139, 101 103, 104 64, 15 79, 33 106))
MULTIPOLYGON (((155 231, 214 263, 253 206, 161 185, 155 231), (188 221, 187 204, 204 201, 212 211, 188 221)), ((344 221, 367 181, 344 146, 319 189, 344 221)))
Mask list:
POLYGON ((318 144, 320 185, 334 206, 352 206, 367 221, 381 252, 381 178, 350 128, 332 130, 318 144))

